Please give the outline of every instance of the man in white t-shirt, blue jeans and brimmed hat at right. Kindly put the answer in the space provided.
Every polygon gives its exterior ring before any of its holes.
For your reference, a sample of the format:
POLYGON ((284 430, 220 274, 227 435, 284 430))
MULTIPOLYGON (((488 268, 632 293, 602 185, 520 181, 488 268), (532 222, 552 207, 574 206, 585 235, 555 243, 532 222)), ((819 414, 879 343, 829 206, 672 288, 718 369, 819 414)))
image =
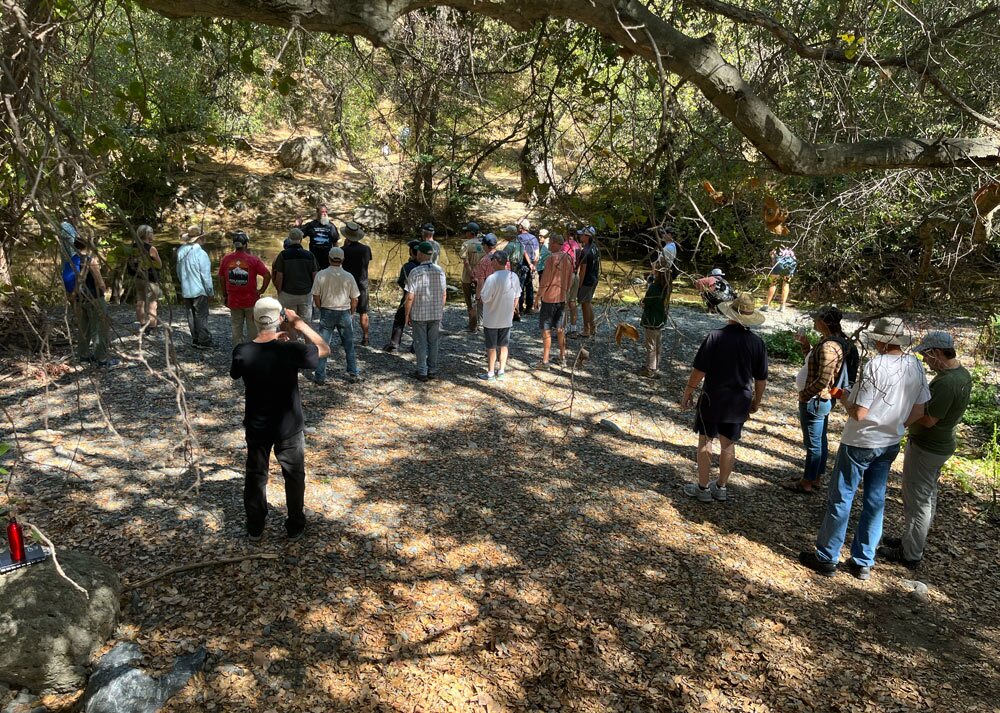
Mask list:
POLYGON ((931 397, 920 362, 903 353, 902 347, 912 341, 905 331, 898 318, 875 322, 866 336, 878 355, 865 364, 854 388, 842 399, 848 419, 830 479, 826 514, 816 549, 799 553, 799 562, 826 577, 837 573, 851 504, 862 484, 864 504, 847 566, 858 579, 871 576, 875 549, 882 538, 889 469, 907 425, 924 415, 924 404, 931 397))

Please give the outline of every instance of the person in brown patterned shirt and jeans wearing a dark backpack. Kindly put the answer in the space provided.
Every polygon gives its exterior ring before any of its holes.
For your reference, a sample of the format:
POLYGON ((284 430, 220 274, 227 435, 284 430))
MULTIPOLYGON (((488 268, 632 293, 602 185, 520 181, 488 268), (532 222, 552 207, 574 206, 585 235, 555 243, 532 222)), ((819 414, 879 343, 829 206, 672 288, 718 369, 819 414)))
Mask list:
POLYGON ((805 465, 801 477, 781 484, 786 490, 804 494, 811 493, 826 472, 830 412, 839 390, 853 383, 858 365, 857 347, 840 325, 843 313, 827 305, 813 312, 812 318, 813 329, 822 337, 816 346, 811 346, 804 334, 795 337, 806 356, 795 377, 805 465))

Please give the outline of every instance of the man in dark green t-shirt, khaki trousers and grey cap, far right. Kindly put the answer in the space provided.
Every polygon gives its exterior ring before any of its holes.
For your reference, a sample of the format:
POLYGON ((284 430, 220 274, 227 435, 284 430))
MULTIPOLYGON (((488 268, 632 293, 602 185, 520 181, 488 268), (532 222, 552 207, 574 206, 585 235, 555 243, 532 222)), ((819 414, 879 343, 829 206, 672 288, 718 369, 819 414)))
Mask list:
POLYGON ((878 556, 915 569, 924 556, 927 533, 937 510, 941 468, 955 452, 955 427, 972 393, 972 375, 959 363, 955 340, 947 332, 928 332, 915 352, 937 372, 924 415, 907 424, 910 437, 903 457, 903 536, 887 537, 878 556))

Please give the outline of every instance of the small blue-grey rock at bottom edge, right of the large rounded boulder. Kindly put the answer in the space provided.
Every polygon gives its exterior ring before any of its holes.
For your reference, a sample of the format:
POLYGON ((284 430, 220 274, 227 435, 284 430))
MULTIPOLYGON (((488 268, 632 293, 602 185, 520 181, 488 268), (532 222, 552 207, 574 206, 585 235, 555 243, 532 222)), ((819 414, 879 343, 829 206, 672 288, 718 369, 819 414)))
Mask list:
POLYGON ((204 667, 207 655, 198 649, 180 656, 170 673, 153 678, 135 667, 142 659, 139 646, 122 642, 94 666, 81 708, 84 713, 156 713, 204 667))

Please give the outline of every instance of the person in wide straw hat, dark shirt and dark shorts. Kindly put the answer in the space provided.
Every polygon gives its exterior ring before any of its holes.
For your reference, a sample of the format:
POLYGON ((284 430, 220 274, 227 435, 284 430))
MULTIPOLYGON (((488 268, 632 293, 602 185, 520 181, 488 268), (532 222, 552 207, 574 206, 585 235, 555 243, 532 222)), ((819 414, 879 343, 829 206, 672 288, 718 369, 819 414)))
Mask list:
POLYGON ((691 408, 694 391, 705 386, 695 405, 694 430, 698 434, 698 481, 684 486, 684 494, 703 503, 729 497, 726 484, 736 463, 736 442, 743 424, 760 408, 767 388, 767 346, 750 331, 764 322, 748 294, 719 305, 728 320, 708 333, 694 357, 681 407, 691 408), (719 477, 709 483, 712 450, 720 443, 719 477))

